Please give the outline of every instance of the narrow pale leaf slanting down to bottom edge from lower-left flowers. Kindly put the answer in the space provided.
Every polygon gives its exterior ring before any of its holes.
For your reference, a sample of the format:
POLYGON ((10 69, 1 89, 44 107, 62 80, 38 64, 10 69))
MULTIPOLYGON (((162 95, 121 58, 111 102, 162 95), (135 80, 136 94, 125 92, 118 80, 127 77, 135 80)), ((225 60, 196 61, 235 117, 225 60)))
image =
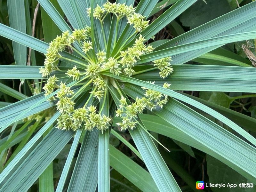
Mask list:
POLYGON ((76 132, 76 135, 75 135, 75 138, 73 140, 72 146, 71 146, 71 148, 69 150, 69 153, 68 153, 66 163, 63 167, 63 170, 62 170, 62 173, 61 173, 61 176, 60 176, 60 180, 59 180, 58 186, 56 188, 56 192, 62 192, 63 191, 65 181, 68 177, 68 171, 69 171, 69 169, 71 167, 71 164, 72 164, 72 161, 74 159, 76 149, 77 149, 77 146, 79 144, 79 139, 82 135, 82 132, 83 132, 82 129, 78 129, 77 132, 76 132))

